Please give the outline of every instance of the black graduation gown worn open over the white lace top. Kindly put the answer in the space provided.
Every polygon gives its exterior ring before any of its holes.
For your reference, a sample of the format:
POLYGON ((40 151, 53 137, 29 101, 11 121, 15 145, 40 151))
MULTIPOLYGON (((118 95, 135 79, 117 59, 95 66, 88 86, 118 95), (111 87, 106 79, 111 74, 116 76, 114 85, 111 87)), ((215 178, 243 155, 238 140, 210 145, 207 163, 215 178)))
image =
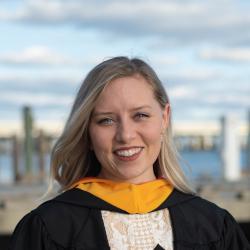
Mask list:
MULTIPOLYGON (((234 218, 209 201, 174 190, 156 210, 163 208, 169 209, 174 250, 250 249, 234 218)), ((80 189, 66 191, 24 216, 9 250, 110 249, 101 210, 126 213, 80 189)))

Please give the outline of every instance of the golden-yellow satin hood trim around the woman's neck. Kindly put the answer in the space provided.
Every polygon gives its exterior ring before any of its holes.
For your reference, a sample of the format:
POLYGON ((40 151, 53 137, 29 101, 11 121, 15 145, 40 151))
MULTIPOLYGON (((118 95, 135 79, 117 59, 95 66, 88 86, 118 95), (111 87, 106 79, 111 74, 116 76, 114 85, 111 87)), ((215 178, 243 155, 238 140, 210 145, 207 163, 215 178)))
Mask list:
POLYGON ((73 187, 89 192, 130 214, 155 210, 173 191, 173 186, 165 179, 132 184, 87 177, 75 183, 73 187))

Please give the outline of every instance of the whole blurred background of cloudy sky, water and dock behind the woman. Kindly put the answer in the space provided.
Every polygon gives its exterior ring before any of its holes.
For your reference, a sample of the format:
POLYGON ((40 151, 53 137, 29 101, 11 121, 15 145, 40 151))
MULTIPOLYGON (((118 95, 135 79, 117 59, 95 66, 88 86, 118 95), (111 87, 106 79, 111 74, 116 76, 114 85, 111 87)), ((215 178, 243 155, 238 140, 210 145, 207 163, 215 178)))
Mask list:
POLYGON ((82 80, 119 55, 156 70, 188 178, 250 238, 249 12, 246 0, 1 0, 0 246, 46 190, 82 80))

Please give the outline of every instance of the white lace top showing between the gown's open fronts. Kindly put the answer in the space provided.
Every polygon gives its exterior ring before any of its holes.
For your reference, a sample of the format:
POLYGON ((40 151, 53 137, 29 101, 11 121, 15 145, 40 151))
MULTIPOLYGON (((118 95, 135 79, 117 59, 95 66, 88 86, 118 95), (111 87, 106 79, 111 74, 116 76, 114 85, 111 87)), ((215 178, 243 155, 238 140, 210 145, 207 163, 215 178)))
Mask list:
POLYGON ((146 214, 102 211, 111 250, 150 250, 157 244, 173 249, 173 234, 168 209, 146 214))

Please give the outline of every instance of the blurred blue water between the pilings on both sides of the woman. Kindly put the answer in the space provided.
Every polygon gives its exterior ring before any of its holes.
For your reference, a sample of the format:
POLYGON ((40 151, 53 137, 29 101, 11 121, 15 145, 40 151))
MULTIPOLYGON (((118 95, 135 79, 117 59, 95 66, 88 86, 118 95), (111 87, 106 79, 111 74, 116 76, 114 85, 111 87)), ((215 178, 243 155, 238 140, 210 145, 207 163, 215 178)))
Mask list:
MULTIPOLYGON (((217 151, 183 151, 181 152, 181 166, 191 180, 200 177, 219 179, 222 177, 220 155, 217 151)), ((246 151, 241 151, 241 168, 246 166, 246 151)), ((46 155, 46 172, 49 170, 49 155, 46 155)), ((24 161, 20 162, 20 170, 24 171, 24 161)), ((33 172, 38 171, 38 158, 34 155, 33 172)), ((0 183, 11 183, 13 181, 12 161, 9 155, 0 155, 0 183)))

